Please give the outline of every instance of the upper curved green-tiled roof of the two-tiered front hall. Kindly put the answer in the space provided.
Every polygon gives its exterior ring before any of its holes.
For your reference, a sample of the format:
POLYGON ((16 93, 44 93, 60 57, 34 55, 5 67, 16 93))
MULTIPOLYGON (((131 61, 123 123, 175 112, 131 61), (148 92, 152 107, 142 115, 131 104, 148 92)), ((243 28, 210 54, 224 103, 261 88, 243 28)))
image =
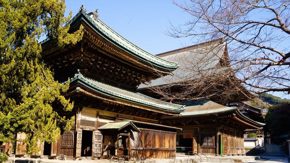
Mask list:
MULTIPOLYGON (((138 46, 134 45, 133 43, 131 43, 130 41, 119 35, 117 32, 115 32, 113 29, 107 26, 100 19, 95 20, 93 18, 93 15, 87 15, 83 10, 78 12, 77 15, 70 20, 69 22, 70 28, 71 29, 74 28, 74 26, 77 25, 77 22, 81 20, 85 21, 85 23, 88 23, 89 26, 92 28, 92 30, 100 34, 99 36, 101 36, 103 39, 119 47, 120 49, 128 52, 134 57, 137 57, 140 61, 146 63, 146 65, 148 66, 153 65, 165 70, 175 70, 176 68, 178 68, 177 62, 166 61, 165 59, 157 57, 149 52, 146 52, 145 50, 139 48, 138 46)), ((46 46, 49 43, 50 43, 49 39, 45 39, 40 42, 42 46, 46 46)))

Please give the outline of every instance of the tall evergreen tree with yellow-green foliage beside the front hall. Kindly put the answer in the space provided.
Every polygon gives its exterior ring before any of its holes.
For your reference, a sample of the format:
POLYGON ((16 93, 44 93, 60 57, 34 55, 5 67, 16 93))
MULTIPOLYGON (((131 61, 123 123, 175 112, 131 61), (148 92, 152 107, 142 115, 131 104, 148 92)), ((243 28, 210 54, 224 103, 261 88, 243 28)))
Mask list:
POLYGON ((37 41, 46 33, 61 49, 82 38, 82 27, 68 34, 69 25, 64 24, 71 12, 64 17, 65 8, 64 0, 0 0, 0 141, 27 133, 28 154, 36 141, 55 142, 60 130, 74 123, 74 117, 60 117, 52 109, 55 100, 64 111, 71 111, 73 104, 60 95, 68 85, 54 80, 37 41))

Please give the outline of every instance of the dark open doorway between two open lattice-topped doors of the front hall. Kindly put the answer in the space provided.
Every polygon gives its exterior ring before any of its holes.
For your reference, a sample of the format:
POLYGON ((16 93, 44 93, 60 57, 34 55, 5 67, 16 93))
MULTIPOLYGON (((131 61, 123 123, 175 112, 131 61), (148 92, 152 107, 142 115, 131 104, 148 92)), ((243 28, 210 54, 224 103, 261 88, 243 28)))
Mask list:
POLYGON ((93 131, 83 130, 81 137, 81 157, 91 157, 93 147, 93 131))

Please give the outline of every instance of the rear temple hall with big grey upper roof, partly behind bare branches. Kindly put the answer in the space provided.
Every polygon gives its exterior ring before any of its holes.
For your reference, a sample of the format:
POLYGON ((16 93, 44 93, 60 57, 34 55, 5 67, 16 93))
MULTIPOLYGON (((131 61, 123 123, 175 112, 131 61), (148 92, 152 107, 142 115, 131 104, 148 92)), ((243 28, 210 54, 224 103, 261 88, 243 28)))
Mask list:
MULTIPOLYGON (((188 46, 157 56, 179 62, 180 67, 168 75, 152 81, 150 85, 141 84, 137 92, 154 98, 160 98, 156 89, 170 89, 171 94, 179 93, 195 80, 206 79, 219 74, 228 76, 231 73, 227 44, 224 39, 216 39, 193 46, 188 46), (184 82, 186 79, 189 82, 184 82)), ((212 85, 204 90, 211 93, 211 89, 223 90, 227 85, 234 83, 234 75, 223 79, 221 83, 212 85)), ((203 85, 211 83, 203 82, 203 85)), ((158 91, 157 89, 157 91, 158 91)), ((162 92, 162 91, 160 91, 162 92)), ((192 91, 195 95, 195 91, 192 91)), ((202 95, 202 94, 201 94, 202 95)), ((188 94, 189 98, 191 94, 188 94)), ((162 117, 160 124, 182 128, 177 131, 177 153, 203 153, 206 155, 245 155, 244 133, 259 131, 264 124, 259 109, 246 105, 244 101, 254 99, 255 94, 248 91, 242 84, 236 86, 235 91, 227 96, 215 96, 210 99, 184 101, 173 99, 172 103, 183 105, 186 110, 180 116, 162 117), (233 104, 235 105, 229 105, 233 104), (226 106, 228 104, 228 106, 226 106), (248 110, 246 109, 248 108, 248 110), (245 114, 244 110, 247 110, 245 114)), ((169 101, 169 100, 168 100, 169 101)))

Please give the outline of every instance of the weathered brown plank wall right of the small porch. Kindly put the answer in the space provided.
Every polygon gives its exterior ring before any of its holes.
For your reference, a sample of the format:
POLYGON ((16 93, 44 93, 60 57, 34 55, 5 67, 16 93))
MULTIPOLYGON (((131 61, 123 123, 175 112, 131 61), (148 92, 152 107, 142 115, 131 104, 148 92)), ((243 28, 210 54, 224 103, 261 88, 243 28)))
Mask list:
POLYGON ((130 138, 131 160, 175 158, 176 133, 139 129, 130 138))

